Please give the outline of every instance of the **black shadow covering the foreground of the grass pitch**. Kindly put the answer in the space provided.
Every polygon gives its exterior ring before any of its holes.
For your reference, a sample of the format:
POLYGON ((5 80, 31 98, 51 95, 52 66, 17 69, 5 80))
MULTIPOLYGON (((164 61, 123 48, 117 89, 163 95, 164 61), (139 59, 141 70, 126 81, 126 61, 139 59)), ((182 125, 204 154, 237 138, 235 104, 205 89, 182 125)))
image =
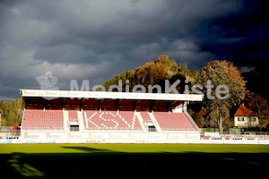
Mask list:
POLYGON ((65 147, 85 153, 13 153, 0 155, 8 178, 192 178, 247 177, 268 172, 265 153, 125 153, 65 147))

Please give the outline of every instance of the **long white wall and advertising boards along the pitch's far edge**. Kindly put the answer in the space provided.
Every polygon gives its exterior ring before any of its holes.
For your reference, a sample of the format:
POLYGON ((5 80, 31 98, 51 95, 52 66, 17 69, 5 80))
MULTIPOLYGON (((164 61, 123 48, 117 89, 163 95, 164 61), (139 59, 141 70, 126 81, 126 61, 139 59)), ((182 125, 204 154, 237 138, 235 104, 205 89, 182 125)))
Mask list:
POLYGON ((4 143, 189 143, 269 144, 267 137, 197 137, 193 132, 27 132, 24 136, 0 137, 4 143), (26 135, 25 135, 26 134, 26 135))

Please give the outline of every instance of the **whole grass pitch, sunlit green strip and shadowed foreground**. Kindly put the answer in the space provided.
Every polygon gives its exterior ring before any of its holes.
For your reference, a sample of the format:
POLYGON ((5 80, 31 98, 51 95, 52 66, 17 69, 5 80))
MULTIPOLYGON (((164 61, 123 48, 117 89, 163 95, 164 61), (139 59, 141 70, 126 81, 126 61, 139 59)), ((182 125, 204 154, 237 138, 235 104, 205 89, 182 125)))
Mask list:
POLYGON ((268 164, 269 145, 0 145, 0 175, 9 178, 249 177, 268 164))

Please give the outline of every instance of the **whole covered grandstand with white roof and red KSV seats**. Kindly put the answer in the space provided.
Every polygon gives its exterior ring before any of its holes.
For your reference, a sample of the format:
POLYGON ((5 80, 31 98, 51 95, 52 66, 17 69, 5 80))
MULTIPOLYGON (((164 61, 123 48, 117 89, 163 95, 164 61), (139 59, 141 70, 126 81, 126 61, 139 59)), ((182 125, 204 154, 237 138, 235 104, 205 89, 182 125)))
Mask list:
POLYGON ((183 142, 200 140, 187 113, 203 95, 20 90, 21 138, 39 142, 183 142))

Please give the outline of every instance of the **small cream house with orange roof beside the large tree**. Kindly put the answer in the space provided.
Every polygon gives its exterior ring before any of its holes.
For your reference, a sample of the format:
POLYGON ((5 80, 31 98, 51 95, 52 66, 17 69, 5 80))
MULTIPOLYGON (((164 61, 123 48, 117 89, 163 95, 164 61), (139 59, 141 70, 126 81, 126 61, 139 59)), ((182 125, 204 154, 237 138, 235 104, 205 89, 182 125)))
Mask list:
POLYGON ((235 127, 252 127, 259 124, 258 117, 256 117, 252 110, 245 107, 244 104, 240 105, 234 114, 235 127))

